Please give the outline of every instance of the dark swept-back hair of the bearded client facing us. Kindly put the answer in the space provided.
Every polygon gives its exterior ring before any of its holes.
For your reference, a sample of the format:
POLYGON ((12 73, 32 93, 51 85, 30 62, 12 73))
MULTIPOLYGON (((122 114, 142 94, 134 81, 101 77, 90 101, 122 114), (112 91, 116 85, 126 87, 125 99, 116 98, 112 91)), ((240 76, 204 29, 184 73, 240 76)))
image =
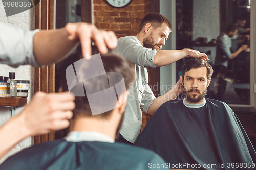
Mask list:
POLYGON ((192 68, 201 68, 205 67, 207 69, 207 79, 209 80, 212 76, 214 70, 212 69, 211 65, 206 61, 202 60, 201 58, 191 58, 188 59, 181 67, 181 76, 184 78, 184 75, 187 71, 192 68))

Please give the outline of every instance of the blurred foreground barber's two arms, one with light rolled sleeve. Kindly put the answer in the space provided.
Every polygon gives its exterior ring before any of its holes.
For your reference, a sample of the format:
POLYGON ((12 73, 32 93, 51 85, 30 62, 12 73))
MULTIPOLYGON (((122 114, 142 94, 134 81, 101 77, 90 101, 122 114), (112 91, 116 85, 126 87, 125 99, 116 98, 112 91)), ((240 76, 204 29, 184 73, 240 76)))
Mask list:
MULTIPOLYGON (((58 62, 80 41, 84 57, 91 56, 91 39, 100 53, 117 46, 112 31, 98 30, 88 23, 68 23, 65 28, 27 31, 0 23, 0 63, 12 67, 41 67, 58 62)), ((69 92, 37 92, 28 106, 0 127, 0 158, 28 136, 45 134, 69 126, 75 97, 69 92)))

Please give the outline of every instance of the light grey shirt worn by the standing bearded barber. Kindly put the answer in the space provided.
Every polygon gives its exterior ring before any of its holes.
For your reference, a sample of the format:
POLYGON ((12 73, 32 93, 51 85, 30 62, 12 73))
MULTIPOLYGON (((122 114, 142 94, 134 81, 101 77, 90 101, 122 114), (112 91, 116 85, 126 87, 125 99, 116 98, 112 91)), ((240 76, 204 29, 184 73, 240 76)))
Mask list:
POLYGON ((142 124, 142 110, 147 112, 155 96, 148 86, 146 67, 156 67, 154 57, 157 50, 145 48, 135 36, 126 36, 118 39, 115 49, 135 65, 135 83, 130 86, 124 120, 120 130, 121 135, 132 143, 140 134, 142 124))

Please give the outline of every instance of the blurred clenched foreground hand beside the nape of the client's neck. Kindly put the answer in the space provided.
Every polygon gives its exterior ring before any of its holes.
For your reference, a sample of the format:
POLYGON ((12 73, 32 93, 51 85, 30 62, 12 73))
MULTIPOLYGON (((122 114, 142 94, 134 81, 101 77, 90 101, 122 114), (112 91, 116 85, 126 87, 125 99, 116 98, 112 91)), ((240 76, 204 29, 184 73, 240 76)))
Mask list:
POLYGON ((20 118, 30 136, 45 134, 69 126, 75 108, 75 97, 69 92, 37 92, 28 106, 20 113, 20 118))

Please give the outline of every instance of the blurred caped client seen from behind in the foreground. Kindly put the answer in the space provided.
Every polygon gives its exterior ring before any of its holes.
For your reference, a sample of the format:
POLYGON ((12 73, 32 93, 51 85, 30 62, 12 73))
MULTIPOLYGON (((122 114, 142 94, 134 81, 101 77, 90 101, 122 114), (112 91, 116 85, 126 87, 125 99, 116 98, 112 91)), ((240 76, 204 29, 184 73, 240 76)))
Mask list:
POLYGON ((76 96, 68 136, 24 149, 0 169, 149 169, 149 163, 165 163, 152 151, 114 143, 128 85, 134 81, 134 66, 120 54, 100 56, 92 51, 95 55, 90 60, 78 50, 62 63, 61 91, 76 96))

